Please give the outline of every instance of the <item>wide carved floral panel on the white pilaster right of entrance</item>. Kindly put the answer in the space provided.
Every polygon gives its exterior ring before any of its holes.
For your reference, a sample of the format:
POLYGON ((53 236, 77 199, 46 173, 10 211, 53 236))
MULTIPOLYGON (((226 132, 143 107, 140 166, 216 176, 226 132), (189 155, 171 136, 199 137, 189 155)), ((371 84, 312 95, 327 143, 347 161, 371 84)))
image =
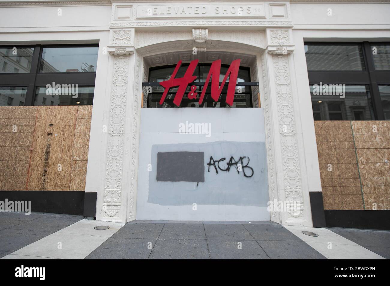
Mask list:
POLYGON ((303 218, 303 194, 294 118, 293 96, 287 56, 273 55, 278 127, 283 164, 284 193, 287 202, 299 202, 299 210, 288 212, 289 218, 303 218))

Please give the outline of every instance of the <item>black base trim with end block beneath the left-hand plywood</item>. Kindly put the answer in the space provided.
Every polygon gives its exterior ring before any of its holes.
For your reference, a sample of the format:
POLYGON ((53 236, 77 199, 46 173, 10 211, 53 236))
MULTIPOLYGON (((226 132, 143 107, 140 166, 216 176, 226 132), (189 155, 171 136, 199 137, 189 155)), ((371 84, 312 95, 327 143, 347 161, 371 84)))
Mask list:
POLYGON ((86 211, 89 217, 95 216, 96 196, 84 191, 0 191, 2 201, 31 201, 32 212, 85 216, 86 211))

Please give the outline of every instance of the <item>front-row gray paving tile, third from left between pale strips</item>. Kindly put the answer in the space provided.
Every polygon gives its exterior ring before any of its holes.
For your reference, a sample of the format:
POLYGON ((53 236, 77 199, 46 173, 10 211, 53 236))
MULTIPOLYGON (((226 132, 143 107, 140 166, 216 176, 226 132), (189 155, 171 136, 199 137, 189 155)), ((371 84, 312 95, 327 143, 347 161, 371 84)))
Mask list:
POLYGON ((207 240, 211 259, 269 259, 255 240, 207 240))

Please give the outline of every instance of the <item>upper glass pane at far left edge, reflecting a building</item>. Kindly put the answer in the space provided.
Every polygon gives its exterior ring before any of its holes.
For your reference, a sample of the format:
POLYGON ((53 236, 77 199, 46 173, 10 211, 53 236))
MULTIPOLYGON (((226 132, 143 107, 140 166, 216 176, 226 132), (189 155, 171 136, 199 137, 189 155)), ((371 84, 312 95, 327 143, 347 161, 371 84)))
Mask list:
POLYGON ((34 47, 0 47, 0 72, 30 72, 33 54, 34 47))

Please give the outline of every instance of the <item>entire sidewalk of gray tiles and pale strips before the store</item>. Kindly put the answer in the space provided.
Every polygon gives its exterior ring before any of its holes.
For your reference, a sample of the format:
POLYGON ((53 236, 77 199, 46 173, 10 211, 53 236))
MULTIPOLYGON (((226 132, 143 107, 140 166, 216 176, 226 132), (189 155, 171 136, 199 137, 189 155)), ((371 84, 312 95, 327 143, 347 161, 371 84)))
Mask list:
POLYGON ((388 259, 390 232, 303 228, 271 221, 123 224, 79 216, 0 212, 0 258, 388 259), (110 228, 95 230, 98 225, 110 228), (304 235, 302 230, 319 237, 304 235))

